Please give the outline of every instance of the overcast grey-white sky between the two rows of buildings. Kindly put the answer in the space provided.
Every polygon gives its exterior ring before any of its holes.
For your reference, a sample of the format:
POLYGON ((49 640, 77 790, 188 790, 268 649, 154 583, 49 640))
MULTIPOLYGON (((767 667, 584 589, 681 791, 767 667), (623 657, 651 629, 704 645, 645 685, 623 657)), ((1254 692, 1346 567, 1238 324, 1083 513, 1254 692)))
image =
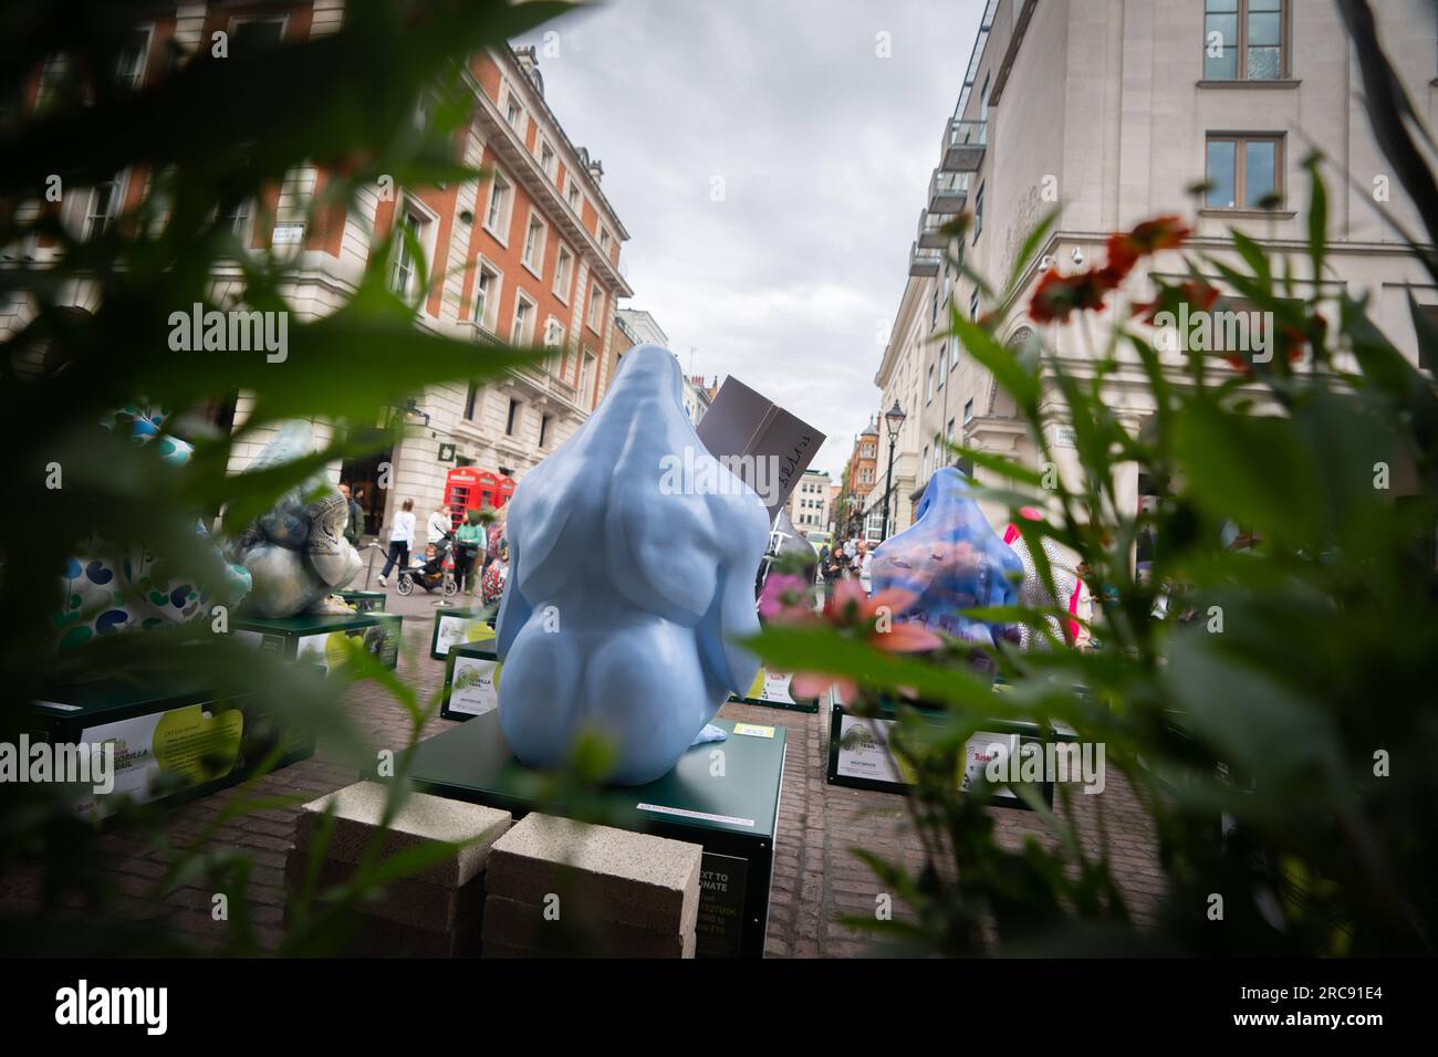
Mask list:
POLYGON ((545 99, 604 163, 631 236, 621 303, 654 315, 686 372, 693 348, 695 374, 825 433, 814 466, 835 480, 877 410, 982 6, 610 0, 515 42, 539 46, 545 99))

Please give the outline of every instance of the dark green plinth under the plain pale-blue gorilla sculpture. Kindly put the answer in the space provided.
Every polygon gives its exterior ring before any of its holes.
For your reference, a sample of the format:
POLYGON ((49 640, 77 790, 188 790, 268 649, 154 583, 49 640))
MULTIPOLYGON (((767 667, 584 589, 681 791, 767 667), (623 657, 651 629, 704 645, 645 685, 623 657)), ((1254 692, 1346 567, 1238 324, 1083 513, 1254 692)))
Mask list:
MULTIPOLYGON (((726 741, 696 745, 659 781, 611 787, 598 797, 611 825, 703 846, 699 958, 762 958, 784 728, 723 719, 715 725, 729 732, 726 741), (752 733, 736 733, 736 726, 752 733)), ((538 798, 539 775, 509 751, 498 712, 420 742, 406 771, 421 790, 510 811, 515 818, 531 811, 571 814, 564 802, 538 798)))

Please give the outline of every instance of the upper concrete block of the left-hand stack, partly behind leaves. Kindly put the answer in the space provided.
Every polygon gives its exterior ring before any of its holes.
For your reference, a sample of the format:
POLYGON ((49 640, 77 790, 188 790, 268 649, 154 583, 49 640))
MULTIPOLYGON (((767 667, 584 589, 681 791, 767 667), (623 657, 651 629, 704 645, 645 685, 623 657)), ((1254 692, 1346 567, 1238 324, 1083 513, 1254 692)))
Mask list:
MULTIPOLYGON (((384 818, 388 788, 383 782, 355 782, 305 804, 295 821, 295 846, 309 848, 332 804, 335 828, 325 847, 325 859, 338 863, 360 861, 384 818)), ((383 859, 388 859, 436 841, 463 844, 453 857, 413 874, 416 880, 457 889, 485 869, 490 847, 512 823, 513 817, 508 811, 414 792, 385 827, 380 853, 383 859)))

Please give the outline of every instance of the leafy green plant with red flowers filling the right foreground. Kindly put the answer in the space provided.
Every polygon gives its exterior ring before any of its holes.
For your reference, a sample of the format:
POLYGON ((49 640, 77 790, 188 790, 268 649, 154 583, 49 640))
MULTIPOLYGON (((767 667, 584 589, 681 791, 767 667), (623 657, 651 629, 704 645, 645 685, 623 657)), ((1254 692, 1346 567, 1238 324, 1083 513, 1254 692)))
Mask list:
MULTIPOLYGON (((1008 683, 998 697, 961 646, 903 657, 876 649, 873 628, 820 621, 771 624, 755 640, 778 669, 857 683, 853 708, 863 715, 896 703, 890 745, 915 775, 906 800, 925 856, 910 870, 857 850, 913 913, 853 925, 949 955, 1434 952, 1438 390, 1375 328, 1365 301, 1339 293, 1337 318, 1326 319, 1320 285, 1297 282, 1297 267, 1311 279, 1330 273, 1320 168, 1309 160, 1303 265, 1232 232, 1241 266, 1191 256, 1192 279, 1162 285, 1143 306, 1150 315, 1181 302, 1211 306, 1217 290, 1202 276, 1221 276, 1273 314, 1270 362, 1194 352, 1178 367, 1155 349, 1152 331, 1103 308, 1135 259, 1182 242, 1176 219, 1116 236, 1103 266, 1040 283, 1028 306, 1035 319, 1103 335, 1080 367, 1038 335, 1020 349, 995 337, 995 324, 1022 308, 1017 280, 1054 217, 1035 229, 1007 286, 971 276, 994 311, 979 322, 953 314, 952 338, 1014 398, 1041 463, 1058 462, 1047 427, 1071 427, 1078 472, 1044 480, 991 453, 956 453, 994 483, 989 499, 1045 512, 1015 523, 1051 594, 1040 541, 1077 555, 1103 649, 984 650, 1008 683), (1104 400, 1120 374, 1152 401, 1137 433, 1104 400), (1048 410, 1055 393, 1061 414, 1048 410), (1116 493, 1133 467, 1160 492, 1152 512, 1116 493), (1234 525, 1251 546, 1221 544, 1234 525), (1133 561, 1143 532, 1159 541, 1150 577, 1133 561), (919 702, 942 710, 925 715, 919 702), (981 797, 958 791, 965 742, 997 715, 1044 733, 1067 726, 1106 748, 1109 772, 1132 788, 1159 844, 1168 890, 1153 928, 1132 920, 1102 802, 1090 854, 1070 787, 1058 787, 1055 811, 1015 787, 1053 840, 1011 850, 981 797)), ((1431 217, 1425 186, 1431 177, 1409 190, 1431 217)), ((1431 259, 1431 247, 1412 249, 1431 259)), ((1438 357, 1438 332, 1416 305, 1412 316, 1424 357, 1438 357)), ((971 616, 1043 630, 1057 613, 971 616)))

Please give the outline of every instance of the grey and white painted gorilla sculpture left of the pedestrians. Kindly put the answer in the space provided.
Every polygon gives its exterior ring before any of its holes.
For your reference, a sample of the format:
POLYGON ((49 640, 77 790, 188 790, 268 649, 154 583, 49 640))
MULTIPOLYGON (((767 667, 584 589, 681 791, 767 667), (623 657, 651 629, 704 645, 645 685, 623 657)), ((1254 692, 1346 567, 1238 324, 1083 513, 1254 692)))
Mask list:
MULTIPOLYGON (((289 421, 250 463, 250 470, 303 459, 315 450, 315 429, 289 421)), ((260 617, 349 613, 329 600, 360 572, 360 552, 345 539, 349 503, 319 472, 292 488, 230 542, 232 561, 250 571, 255 587, 246 607, 260 617)))

